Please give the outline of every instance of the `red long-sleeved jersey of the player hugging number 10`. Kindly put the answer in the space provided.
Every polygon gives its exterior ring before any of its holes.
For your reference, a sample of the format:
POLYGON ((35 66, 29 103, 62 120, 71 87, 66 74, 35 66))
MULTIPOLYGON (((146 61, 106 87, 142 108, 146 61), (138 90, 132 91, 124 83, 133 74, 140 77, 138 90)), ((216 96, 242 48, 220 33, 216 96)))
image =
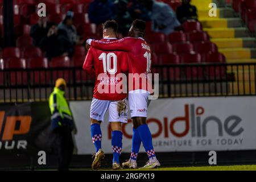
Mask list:
MULTIPOLYGON (((126 51, 129 57, 129 73, 138 73, 146 80, 133 76, 133 86, 129 86, 129 91, 143 89, 152 93, 151 81, 148 73, 151 73, 151 50, 149 44, 142 38, 123 38, 113 42, 93 40, 90 46, 106 51, 126 51), (135 83, 138 84, 135 84, 135 83), (146 82, 146 84, 145 84, 146 82), (146 86, 145 86, 146 85, 146 86), (147 86, 148 85, 148 86, 147 86)), ((130 82, 129 82, 130 84, 130 82)))

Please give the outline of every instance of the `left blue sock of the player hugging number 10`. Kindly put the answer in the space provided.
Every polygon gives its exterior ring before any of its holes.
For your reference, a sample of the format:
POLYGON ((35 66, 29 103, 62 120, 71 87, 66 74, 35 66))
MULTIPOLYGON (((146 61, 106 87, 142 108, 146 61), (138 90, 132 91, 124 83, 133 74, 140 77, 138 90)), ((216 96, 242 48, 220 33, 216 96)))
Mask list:
POLYGON ((131 160, 137 160, 139 148, 141 147, 141 136, 139 136, 138 129, 133 128, 133 139, 131 144, 131 160))

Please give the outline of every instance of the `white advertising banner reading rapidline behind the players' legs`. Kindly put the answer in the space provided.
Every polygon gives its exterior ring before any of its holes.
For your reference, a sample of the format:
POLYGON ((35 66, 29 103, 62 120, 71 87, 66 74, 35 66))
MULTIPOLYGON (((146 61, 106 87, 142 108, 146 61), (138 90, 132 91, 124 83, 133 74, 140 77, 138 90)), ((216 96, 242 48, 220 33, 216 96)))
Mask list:
MULTIPOLYGON (((79 154, 93 154, 90 101, 72 101, 79 154)), ((108 114, 105 116, 108 121, 108 114)), ((148 107, 154 150, 256 150, 256 97, 166 98, 148 107)), ((112 153, 109 122, 102 123, 102 149, 112 153)), ((130 152, 132 123, 122 126, 123 152, 130 152)), ((141 152, 144 152, 141 146, 141 152)))

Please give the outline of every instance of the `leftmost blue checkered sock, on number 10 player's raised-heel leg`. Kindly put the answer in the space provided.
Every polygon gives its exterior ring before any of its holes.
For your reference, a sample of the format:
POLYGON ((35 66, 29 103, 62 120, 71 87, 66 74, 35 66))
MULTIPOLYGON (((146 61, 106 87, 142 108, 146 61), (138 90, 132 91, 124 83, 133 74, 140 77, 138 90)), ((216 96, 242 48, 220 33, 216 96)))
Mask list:
POLYGON ((94 123, 93 125, 90 125, 90 134, 93 140, 93 144, 96 150, 96 153, 101 148, 101 125, 94 123))

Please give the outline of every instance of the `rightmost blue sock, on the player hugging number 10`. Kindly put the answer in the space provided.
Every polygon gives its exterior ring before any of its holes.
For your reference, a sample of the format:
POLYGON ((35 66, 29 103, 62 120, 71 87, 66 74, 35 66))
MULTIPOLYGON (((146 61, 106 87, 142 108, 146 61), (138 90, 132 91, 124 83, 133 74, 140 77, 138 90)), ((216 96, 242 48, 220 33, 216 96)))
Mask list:
POLYGON ((141 136, 141 140, 145 151, 147 152, 147 156, 149 159, 155 158, 155 151, 152 144, 152 135, 150 133, 150 129, 146 124, 138 127, 139 135, 141 136))

